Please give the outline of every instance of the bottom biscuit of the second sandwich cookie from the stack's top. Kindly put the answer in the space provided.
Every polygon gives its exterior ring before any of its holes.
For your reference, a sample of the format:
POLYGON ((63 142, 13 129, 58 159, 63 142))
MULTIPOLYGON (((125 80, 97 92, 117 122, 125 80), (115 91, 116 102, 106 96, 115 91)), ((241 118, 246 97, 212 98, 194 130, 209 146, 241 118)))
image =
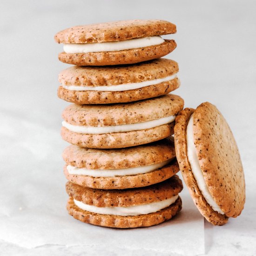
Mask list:
POLYGON ((127 91, 108 92, 108 91, 71 91, 60 86, 58 97, 64 101, 75 104, 110 104, 132 101, 141 101, 148 98, 168 94, 180 87, 180 80, 174 78, 171 81, 162 82, 127 91))

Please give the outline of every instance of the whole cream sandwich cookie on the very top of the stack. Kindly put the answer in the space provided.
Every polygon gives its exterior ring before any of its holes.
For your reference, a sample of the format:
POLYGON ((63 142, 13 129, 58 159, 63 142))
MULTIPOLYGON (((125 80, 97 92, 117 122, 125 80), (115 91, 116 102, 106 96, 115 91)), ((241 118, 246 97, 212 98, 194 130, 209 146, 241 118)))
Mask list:
POLYGON ((174 33, 176 26, 165 20, 122 20, 67 28, 54 39, 64 44, 60 61, 77 66, 105 66, 167 55, 176 43, 161 35, 174 33))

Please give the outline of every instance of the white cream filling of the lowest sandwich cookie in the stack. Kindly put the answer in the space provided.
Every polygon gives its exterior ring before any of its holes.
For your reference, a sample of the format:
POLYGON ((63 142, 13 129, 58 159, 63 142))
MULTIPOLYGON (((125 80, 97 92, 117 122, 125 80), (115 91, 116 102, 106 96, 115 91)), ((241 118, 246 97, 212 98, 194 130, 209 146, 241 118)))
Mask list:
POLYGON ((77 201, 74 199, 74 204, 85 211, 106 214, 106 215, 118 215, 118 216, 138 216, 142 214, 149 214, 152 212, 157 212, 162 210, 171 204, 173 204, 178 198, 178 195, 175 195, 171 198, 168 198, 159 202, 151 202, 146 204, 127 206, 127 207, 97 207, 94 205, 85 204, 83 202, 77 201))

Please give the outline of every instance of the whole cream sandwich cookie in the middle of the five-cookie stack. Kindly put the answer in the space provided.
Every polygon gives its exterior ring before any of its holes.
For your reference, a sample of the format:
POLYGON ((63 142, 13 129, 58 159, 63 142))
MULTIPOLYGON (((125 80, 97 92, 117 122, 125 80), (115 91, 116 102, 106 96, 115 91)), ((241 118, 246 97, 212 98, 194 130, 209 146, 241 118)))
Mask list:
POLYGON ((127 148, 173 134, 181 97, 167 94, 110 105, 71 104, 62 113, 62 138, 83 148, 127 148))

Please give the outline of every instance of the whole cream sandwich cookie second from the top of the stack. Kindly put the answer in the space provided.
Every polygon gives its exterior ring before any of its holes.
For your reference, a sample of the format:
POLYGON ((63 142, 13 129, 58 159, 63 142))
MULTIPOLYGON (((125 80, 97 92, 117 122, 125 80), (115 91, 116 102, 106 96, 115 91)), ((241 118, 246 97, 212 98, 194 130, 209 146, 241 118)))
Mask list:
POLYGON ((129 66, 78 67, 59 74, 58 96, 76 104, 139 101, 168 94, 180 86, 178 63, 156 59, 129 66))

